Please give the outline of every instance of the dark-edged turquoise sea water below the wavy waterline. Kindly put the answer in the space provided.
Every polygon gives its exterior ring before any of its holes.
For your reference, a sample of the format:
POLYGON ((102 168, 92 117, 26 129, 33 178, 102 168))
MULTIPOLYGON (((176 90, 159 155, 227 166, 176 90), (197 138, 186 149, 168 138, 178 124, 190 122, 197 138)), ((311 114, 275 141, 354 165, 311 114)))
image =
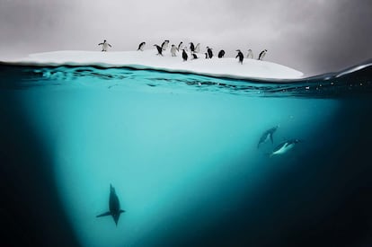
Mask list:
POLYGON ((372 246, 370 63, 292 81, 0 71, 6 246, 372 246), (118 225, 96 217, 110 185, 118 225))

